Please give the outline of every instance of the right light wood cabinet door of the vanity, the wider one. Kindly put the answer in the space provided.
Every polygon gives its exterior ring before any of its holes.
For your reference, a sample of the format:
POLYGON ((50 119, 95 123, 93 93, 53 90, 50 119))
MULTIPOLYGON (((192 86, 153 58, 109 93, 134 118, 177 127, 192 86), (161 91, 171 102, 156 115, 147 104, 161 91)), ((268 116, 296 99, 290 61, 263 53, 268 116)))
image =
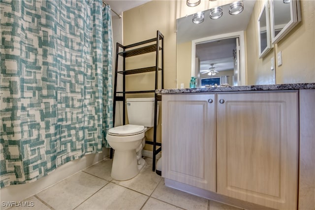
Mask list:
POLYGON ((296 210, 298 130, 297 91, 218 94, 218 193, 296 210))

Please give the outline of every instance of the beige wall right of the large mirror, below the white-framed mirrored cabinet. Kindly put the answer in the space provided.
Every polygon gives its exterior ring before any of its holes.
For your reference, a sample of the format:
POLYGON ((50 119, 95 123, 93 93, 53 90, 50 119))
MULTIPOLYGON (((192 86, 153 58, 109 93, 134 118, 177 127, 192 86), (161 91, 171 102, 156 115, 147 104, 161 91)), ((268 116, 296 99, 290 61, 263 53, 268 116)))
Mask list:
POLYGON ((301 17, 302 21, 275 45, 275 55, 282 51, 283 60, 282 66, 276 65, 277 84, 315 82, 314 0, 301 1, 301 17))

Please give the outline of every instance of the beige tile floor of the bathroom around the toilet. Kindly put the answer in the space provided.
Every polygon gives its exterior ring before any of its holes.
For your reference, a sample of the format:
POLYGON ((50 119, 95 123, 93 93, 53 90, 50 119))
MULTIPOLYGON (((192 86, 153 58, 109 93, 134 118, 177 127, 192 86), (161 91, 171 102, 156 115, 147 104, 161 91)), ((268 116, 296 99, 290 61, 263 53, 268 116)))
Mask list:
POLYGON ((146 167, 126 181, 113 180, 112 160, 103 160, 26 199, 34 206, 25 210, 239 210, 166 187, 145 159, 146 167))

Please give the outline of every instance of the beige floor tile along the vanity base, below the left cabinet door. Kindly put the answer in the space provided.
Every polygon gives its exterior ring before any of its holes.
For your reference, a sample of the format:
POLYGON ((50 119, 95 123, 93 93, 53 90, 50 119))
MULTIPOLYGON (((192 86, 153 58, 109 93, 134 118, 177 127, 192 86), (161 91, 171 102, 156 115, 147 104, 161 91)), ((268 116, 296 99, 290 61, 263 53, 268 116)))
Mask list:
POLYGON ((187 210, 207 210, 208 200, 164 185, 162 180, 152 197, 187 210))

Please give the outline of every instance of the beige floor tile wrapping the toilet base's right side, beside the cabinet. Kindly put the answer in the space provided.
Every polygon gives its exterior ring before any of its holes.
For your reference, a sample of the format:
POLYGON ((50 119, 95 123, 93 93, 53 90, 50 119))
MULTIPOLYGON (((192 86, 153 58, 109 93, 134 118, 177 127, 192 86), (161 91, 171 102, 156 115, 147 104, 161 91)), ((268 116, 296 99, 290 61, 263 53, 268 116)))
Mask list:
POLYGON ((145 160, 147 165, 136 177, 126 181, 112 180, 112 182, 143 194, 151 195, 162 178, 152 171, 152 158, 146 158, 145 160))

